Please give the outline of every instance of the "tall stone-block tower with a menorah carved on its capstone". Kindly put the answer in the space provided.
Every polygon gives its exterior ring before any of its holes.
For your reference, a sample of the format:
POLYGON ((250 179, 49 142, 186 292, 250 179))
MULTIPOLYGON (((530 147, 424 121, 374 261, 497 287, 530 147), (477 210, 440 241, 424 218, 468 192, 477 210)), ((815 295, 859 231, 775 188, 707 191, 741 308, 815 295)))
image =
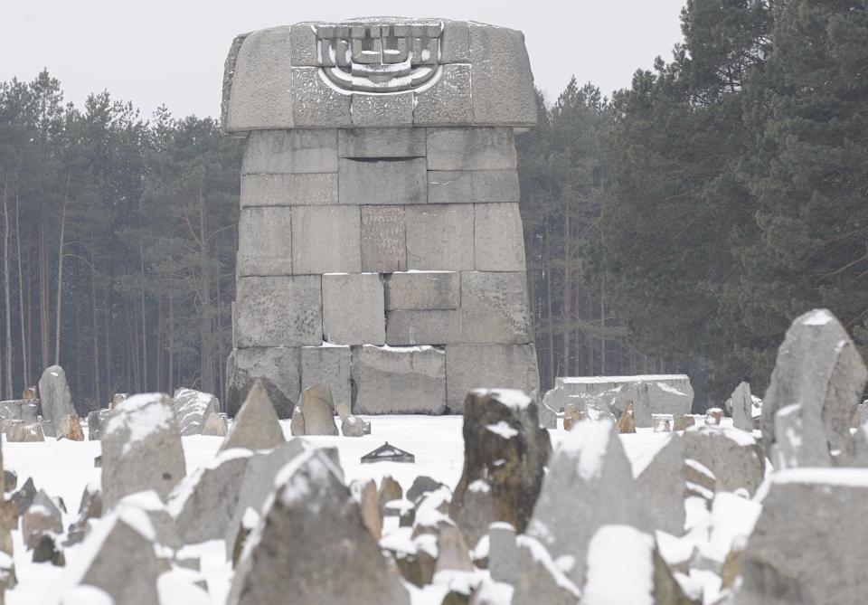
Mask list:
POLYGON ((524 36, 375 17, 238 36, 222 123, 246 137, 228 410, 264 379, 287 417, 462 411, 537 388, 514 132, 524 36))

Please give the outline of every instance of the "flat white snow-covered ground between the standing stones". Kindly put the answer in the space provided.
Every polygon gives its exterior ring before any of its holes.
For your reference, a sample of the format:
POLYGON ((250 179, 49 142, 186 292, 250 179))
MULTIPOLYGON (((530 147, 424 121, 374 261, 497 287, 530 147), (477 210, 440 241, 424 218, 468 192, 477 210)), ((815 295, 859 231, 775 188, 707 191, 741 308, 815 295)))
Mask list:
MULTIPOLYGON (((464 440, 461 434, 461 416, 370 416, 371 435, 359 438, 346 437, 307 437, 305 439, 320 446, 334 446, 340 453, 341 465, 347 482, 354 479, 374 478, 378 481, 391 475, 401 483, 406 491, 415 477, 428 475, 449 487, 454 487, 461 476, 464 462, 464 440), (360 458, 383 441, 410 451, 416 457, 415 464, 378 462, 362 464, 360 458)), ((284 432, 289 436, 289 422, 282 423, 284 432)), ((563 430, 552 430, 552 445, 566 436, 563 430)), ((627 456, 635 466, 642 466, 653 456, 666 437, 666 433, 640 430, 634 435, 622 435, 627 456)), ((184 454, 187 473, 203 466, 211 460, 220 447, 219 437, 184 437, 184 454)), ((13 468, 18 473, 18 487, 27 477, 33 477, 37 489, 44 489, 50 496, 60 496, 69 513, 64 515, 63 525, 68 527, 77 517, 81 493, 84 487, 94 482, 99 485, 100 470, 94 468, 94 458, 99 455, 99 441, 75 442, 47 439, 44 443, 5 443, 3 455, 5 468, 13 468)), ((388 529, 388 525, 387 525, 388 529)), ((33 563, 32 551, 27 551, 22 543, 21 533, 14 531, 14 561, 18 576, 18 586, 6 591, 9 605, 37 605, 47 594, 52 593, 63 568, 53 567, 51 563, 33 563)), ((79 546, 66 551, 67 562, 76 556, 79 546)), ((189 547, 188 547, 189 548, 189 547)), ((220 541, 193 547, 202 554, 203 575, 208 580, 208 588, 213 603, 222 603, 229 590, 231 575, 230 564, 224 560, 223 544, 220 541)), ((413 591, 414 605, 439 603, 446 591, 443 587, 427 587, 413 591)))

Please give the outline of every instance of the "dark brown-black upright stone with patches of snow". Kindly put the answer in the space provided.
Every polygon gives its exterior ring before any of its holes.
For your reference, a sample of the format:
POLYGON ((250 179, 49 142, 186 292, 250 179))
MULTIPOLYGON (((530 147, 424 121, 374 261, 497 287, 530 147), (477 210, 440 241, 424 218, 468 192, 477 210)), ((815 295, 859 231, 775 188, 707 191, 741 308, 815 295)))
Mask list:
POLYGON ((477 390, 464 404, 464 470, 450 514, 471 547, 488 525, 524 532, 552 451, 536 403, 521 391, 477 390))

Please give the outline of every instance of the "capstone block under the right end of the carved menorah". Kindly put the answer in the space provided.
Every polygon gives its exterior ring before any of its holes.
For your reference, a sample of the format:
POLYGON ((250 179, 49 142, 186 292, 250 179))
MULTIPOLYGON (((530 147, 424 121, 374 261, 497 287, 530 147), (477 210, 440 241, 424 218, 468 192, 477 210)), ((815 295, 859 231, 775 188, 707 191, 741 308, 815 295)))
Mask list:
POLYGON ((416 92, 415 126, 469 124, 473 119, 470 66, 444 65, 440 69, 437 84, 416 92))

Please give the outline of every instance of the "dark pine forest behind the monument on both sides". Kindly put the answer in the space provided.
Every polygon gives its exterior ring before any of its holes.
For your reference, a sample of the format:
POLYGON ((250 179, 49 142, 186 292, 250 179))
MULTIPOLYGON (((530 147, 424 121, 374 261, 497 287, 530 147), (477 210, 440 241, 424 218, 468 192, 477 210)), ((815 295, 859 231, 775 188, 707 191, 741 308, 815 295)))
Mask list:
MULTIPOLYGON (((668 62, 571 80, 516 138, 543 388, 690 373, 762 394, 793 318, 868 345, 868 0, 689 0, 668 62)), ((225 389, 241 142, 0 82, 0 394, 225 389)), ((864 350, 864 348, 863 348, 864 350)))

